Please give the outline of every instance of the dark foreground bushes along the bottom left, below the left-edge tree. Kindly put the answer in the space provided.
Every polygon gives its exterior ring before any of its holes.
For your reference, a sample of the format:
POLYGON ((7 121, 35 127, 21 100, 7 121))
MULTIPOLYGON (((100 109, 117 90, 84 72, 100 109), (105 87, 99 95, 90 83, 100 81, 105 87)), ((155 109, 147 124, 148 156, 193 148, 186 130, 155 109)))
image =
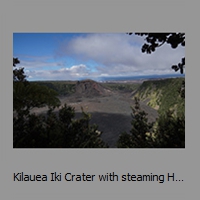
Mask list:
POLYGON ((106 148, 97 125, 90 116, 74 119, 75 111, 66 104, 58 115, 50 109, 46 116, 29 114, 13 119, 14 148, 106 148))

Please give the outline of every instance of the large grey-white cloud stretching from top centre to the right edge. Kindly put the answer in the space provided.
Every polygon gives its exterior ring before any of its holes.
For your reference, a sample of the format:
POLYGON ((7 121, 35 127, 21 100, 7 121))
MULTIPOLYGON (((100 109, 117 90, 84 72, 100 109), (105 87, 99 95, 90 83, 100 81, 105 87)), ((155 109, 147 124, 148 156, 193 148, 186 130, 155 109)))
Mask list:
POLYGON ((62 56, 72 56, 80 62, 93 60, 99 74, 131 75, 165 73, 185 56, 184 48, 173 50, 164 45, 148 55, 141 52, 144 38, 123 34, 87 34, 66 41, 57 50, 62 56))

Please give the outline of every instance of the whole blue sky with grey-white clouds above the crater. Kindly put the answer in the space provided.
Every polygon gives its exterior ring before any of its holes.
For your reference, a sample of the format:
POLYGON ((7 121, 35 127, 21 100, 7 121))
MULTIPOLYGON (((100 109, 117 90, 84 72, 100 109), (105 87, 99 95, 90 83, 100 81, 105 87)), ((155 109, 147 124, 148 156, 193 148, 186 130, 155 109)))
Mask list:
POLYGON ((169 45, 147 55, 143 43, 125 33, 14 33, 13 57, 31 81, 174 74, 171 66, 185 56, 169 45))

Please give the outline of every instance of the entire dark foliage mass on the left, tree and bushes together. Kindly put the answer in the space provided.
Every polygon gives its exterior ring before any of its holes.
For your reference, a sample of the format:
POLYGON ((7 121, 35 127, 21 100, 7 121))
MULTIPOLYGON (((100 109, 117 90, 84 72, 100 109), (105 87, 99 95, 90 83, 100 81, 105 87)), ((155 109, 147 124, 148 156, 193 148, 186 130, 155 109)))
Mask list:
MULTIPOLYGON (((19 60, 13 58, 13 67, 18 63, 19 60)), ((13 70, 13 147, 108 147, 100 137, 98 126, 89 124, 90 115, 83 110, 80 119, 74 118, 74 108, 66 104, 60 108, 57 115, 53 112, 60 105, 57 95, 58 93, 47 85, 28 82, 23 68, 13 70), (49 107, 46 115, 30 113, 32 108, 43 106, 49 107)))

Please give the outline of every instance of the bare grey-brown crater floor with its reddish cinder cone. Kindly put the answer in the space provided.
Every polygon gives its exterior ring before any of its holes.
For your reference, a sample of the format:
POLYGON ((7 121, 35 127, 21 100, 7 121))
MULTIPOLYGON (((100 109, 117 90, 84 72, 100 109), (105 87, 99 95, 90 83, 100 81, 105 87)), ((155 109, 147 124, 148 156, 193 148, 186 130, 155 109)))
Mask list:
MULTIPOLYGON (((76 117, 81 116, 81 108, 91 114, 91 124, 97 124, 102 131, 102 139, 111 148, 116 147, 120 133, 131 130, 131 106, 134 106, 133 94, 105 88, 92 80, 78 81, 76 92, 60 97, 61 107, 64 104, 75 108, 76 117)), ((157 111, 140 102, 141 108, 148 113, 149 121, 154 121, 157 111)), ((47 107, 34 109, 32 112, 45 113, 47 107)), ((58 109, 55 109, 58 112, 58 109)))

